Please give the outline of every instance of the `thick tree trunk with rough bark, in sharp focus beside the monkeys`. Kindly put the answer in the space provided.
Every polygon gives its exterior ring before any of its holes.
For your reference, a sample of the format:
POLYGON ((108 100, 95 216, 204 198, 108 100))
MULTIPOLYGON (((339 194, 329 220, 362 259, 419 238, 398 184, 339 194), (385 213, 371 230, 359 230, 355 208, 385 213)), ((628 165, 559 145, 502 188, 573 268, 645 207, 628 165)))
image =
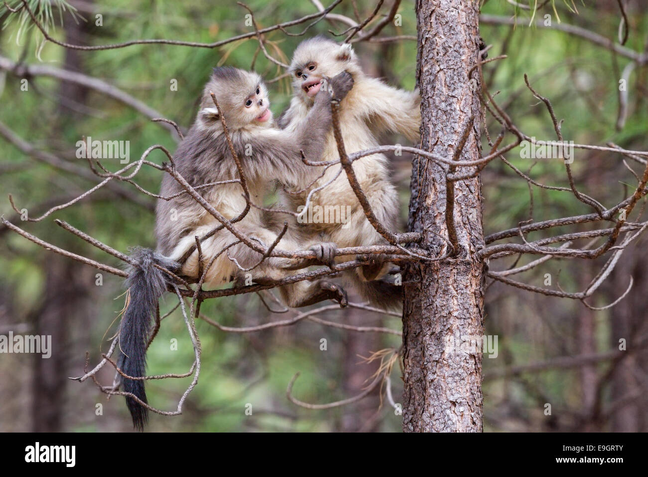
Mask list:
MULTIPOLYGON (((478 62, 479 3, 418 0, 416 12, 421 147, 452 157, 469 128, 457 159, 476 160, 481 112, 469 72, 478 62)), ((445 169, 417 157, 411 192, 409 230, 423 233, 419 245, 434 256, 446 251, 452 256, 404 269, 403 429, 481 432, 482 355, 454 349, 457 340, 483 336, 484 271, 476 258, 483 248, 481 180, 461 180, 446 189, 445 169), (448 201, 453 205, 446 207, 446 197, 453 194, 454 201, 448 201), (456 254, 444 238, 456 243, 456 254)))

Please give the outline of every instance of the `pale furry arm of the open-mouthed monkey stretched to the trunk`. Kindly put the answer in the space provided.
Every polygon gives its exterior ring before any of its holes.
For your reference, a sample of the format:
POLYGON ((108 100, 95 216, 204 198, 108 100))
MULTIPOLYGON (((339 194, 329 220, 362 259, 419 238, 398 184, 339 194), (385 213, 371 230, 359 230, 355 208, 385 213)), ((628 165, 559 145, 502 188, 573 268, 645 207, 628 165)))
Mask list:
MULTIPOLYGON (((400 132, 411 141, 419 140, 421 126, 421 95, 393 88, 384 82, 367 78, 363 82, 357 107, 371 128, 382 131, 400 132)), ((348 106, 347 106, 348 107, 348 106)))

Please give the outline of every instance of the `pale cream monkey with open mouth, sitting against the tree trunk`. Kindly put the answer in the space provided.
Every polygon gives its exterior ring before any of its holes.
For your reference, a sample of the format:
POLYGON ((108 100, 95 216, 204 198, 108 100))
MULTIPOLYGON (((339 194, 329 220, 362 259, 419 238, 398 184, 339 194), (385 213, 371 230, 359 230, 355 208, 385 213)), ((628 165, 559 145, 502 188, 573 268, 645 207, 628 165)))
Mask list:
MULTIPOLYGON (((376 135, 384 131, 400 132, 410 140, 418 140, 421 125, 421 97, 418 91, 406 92, 365 76, 351 45, 340 45, 323 36, 305 40, 295 50, 289 69, 295 90, 294 97, 288 110, 279 118, 279 127, 290 132, 299 130, 315 107, 321 79, 333 77, 341 71, 348 71, 354 79, 353 90, 341 100, 339 109, 340 128, 348 154, 378 146, 376 135)), ((322 160, 338 160, 339 157, 336 141, 330 131, 327 133, 322 160)), ((329 167, 322 178, 307 187, 322 172, 322 167, 312 167, 303 182, 293 188, 293 193, 286 195, 291 210, 297 211, 300 205, 303 206, 308 192, 332 180, 340 167, 341 165, 329 167), (307 190, 294 193, 303 188, 307 190)), ((389 230, 395 230, 398 194, 389 180, 386 156, 365 156, 353 162, 353 169, 378 220, 389 230)), ((345 173, 315 193, 311 200, 313 208, 329 206, 334 210, 338 207, 348 210, 347 206, 351 206, 351 214, 345 223, 329 221, 304 225, 303 228, 312 236, 319 234, 338 247, 386 243, 365 217, 345 173)), ((346 278, 354 282, 365 299, 393 308, 399 304, 400 287, 385 286, 381 281, 375 280, 387 273, 391 265, 380 263, 380 256, 372 257, 373 263, 347 273, 346 278)), ((336 260, 340 261, 341 259, 336 260)))

